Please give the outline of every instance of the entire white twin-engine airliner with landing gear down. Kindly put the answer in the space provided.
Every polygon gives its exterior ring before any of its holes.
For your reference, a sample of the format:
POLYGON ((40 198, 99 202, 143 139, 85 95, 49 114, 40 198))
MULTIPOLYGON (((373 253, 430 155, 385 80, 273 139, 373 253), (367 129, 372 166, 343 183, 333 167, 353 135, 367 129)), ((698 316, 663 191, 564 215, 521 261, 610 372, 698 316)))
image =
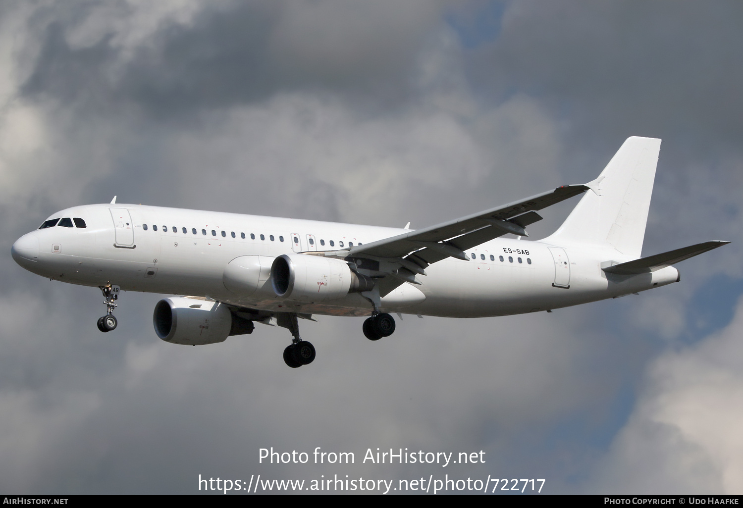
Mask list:
POLYGON ((117 325, 120 290, 189 295, 155 305, 155 332, 204 345, 279 325, 290 367, 315 357, 297 318, 371 316, 371 340, 395 331, 390 313, 481 317, 547 311, 678 282, 678 261, 727 244, 707 241, 640 257, 661 140, 630 137, 596 180, 558 187, 424 229, 337 224, 132 204, 53 213, 13 244, 33 273, 97 286, 117 325), (585 192, 557 232, 525 241, 536 210, 585 192), (511 233, 517 238, 502 238, 511 233))

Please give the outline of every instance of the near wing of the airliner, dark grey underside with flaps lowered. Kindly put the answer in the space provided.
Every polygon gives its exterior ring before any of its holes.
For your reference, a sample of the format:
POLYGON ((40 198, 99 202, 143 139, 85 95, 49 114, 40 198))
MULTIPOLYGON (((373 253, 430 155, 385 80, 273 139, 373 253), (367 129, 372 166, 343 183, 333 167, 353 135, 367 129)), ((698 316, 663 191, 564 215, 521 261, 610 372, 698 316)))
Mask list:
POLYGON ((378 258, 402 258, 415 253, 417 264, 427 264, 454 257, 467 259, 464 250, 507 233, 528 236, 525 227, 542 218, 535 210, 546 208, 588 190, 585 185, 566 185, 522 201, 497 206, 454 221, 402 235, 372 241, 349 250, 351 257, 371 255, 378 258))

